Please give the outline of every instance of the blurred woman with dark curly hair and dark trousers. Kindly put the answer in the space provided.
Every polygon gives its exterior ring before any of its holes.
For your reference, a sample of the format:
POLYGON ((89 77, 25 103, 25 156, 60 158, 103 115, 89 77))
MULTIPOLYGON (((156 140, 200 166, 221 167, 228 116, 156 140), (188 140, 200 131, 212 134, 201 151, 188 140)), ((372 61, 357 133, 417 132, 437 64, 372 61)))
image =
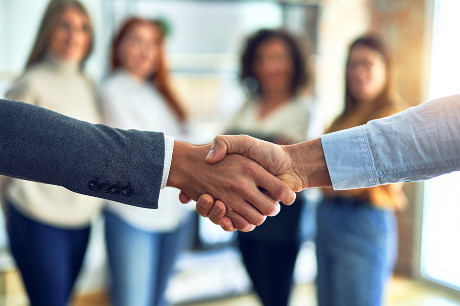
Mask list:
MULTIPOLYGON (((308 81, 300 47, 286 32, 261 30, 249 37, 241 81, 249 99, 227 126, 228 134, 248 134, 277 144, 305 141, 310 112, 302 89, 308 81)), ((253 232, 238 233, 244 264, 265 306, 288 304, 300 248, 304 197, 282 206, 253 232)))

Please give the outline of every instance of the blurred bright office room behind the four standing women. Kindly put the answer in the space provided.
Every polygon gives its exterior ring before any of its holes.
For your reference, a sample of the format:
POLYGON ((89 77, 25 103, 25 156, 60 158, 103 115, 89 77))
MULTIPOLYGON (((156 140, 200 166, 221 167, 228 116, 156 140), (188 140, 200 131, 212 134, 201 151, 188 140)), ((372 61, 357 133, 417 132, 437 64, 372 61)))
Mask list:
MULTIPOLYGON (((187 139, 205 143, 227 129, 243 106, 240 57, 248 36, 285 29, 312 70, 307 137, 321 135, 343 110, 350 43, 375 33, 393 57, 397 91, 407 106, 459 93, 460 2, 457 0, 81 0, 94 23, 94 49, 84 72, 96 85, 110 71, 114 35, 128 17, 166 24, 171 84, 189 114, 187 139), (457 38, 455 38, 457 37, 457 38)), ((0 97, 24 72, 49 0, 0 0, 0 97)), ((460 305, 460 175, 405 184, 408 205, 397 212, 398 260, 385 295, 388 305, 460 305)), ((314 305, 316 261, 310 190, 302 206, 291 305, 314 305)), ((193 209, 193 203, 189 204, 193 209)), ((193 213, 192 213, 193 214, 193 213)), ((235 233, 191 216, 186 250, 166 289, 173 304, 259 305, 235 233)), ((0 305, 26 305, 27 293, 10 255, 0 218, 0 305)), ((72 298, 76 305, 109 304, 104 218, 91 221, 89 246, 72 298)), ((281 305, 280 305, 281 306, 281 305)))

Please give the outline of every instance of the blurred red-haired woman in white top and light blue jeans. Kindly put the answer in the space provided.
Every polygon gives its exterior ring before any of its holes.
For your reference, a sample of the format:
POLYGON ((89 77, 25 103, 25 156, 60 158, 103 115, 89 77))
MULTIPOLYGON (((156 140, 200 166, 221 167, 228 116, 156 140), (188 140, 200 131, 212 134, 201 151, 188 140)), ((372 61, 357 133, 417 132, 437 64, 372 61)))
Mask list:
MULTIPOLYGON (((106 124, 183 138, 186 115, 170 85, 164 29, 159 22, 140 18, 122 25, 112 45, 112 73, 100 90, 106 124)), ((164 302, 183 244, 180 237, 190 223, 177 194, 175 189, 163 189, 157 210, 108 203, 105 225, 114 305, 164 302)))

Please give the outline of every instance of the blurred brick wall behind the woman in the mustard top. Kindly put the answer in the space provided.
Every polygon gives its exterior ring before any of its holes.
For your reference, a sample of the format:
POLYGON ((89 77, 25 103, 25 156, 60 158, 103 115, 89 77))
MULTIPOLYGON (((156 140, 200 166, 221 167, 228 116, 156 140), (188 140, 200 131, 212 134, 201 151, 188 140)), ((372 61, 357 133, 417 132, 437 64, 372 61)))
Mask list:
MULTIPOLYGON (((370 1, 371 20, 369 29, 380 32, 390 42, 390 52, 395 65, 395 81, 399 94, 409 106, 420 104, 423 99, 425 58, 425 1, 390 0, 370 1)), ((398 215, 399 251, 395 272, 413 275, 416 250, 414 230, 417 205, 416 184, 404 188, 409 206, 398 215)))

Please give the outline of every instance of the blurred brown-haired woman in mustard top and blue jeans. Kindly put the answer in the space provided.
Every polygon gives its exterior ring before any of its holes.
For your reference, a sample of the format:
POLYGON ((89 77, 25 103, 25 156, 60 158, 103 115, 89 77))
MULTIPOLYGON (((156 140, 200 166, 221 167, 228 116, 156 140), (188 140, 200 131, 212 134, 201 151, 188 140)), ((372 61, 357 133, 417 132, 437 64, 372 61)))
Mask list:
MULTIPOLYGON (((390 68, 390 59, 379 39, 365 36, 352 43, 345 108, 328 132, 399 111, 390 68)), ((397 256, 394 211, 405 201, 401 185, 324 190, 324 202, 317 209, 319 306, 382 303, 384 285, 397 256)))

